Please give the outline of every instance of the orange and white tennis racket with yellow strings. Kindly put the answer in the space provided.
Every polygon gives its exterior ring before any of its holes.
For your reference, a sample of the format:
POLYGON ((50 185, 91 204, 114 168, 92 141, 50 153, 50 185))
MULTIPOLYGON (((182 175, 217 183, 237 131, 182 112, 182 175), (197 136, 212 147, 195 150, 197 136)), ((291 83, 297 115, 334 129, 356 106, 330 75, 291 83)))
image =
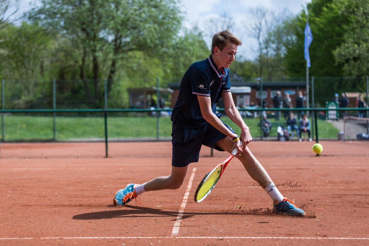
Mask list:
POLYGON ((200 182, 197 190, 195 192, 195 201, 201 202, 203 201, 208 194, 214 189, 215 185, 218 183, 220 176, 222 176, 225 168, 228 163, 232 160, 233 156, 237 154, 238 150, 235 148, 231 155, 228 156, 223 162, 215 165, 204 177, 204 179, 200 182))

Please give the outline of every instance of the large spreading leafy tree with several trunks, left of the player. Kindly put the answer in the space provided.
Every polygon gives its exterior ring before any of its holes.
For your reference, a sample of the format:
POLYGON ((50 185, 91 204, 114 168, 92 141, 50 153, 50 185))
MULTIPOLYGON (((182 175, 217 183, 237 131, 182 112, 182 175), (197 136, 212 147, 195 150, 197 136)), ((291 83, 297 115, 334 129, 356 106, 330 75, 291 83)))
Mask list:
POLYGON ((86 96, 92 95, 87 83, 91 67, 93 97, 99 100, 102 96, 99 79, 108 77, 110 92, 117 64, 127 53, 154 54, 167 46, 181 22, 175 3, 175 0, 41 0, 41 7, 32 9, 29 16, 30 20, 63 34, 79 49, 79 76, 86 96), (101 67, 107 69, 101 71, 101 67))

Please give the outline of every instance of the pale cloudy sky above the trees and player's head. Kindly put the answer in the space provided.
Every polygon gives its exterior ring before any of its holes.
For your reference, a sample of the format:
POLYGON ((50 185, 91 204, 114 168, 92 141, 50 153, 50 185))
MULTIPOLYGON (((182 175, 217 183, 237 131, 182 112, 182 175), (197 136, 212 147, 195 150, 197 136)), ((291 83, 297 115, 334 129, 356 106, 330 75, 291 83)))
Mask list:
MULTIPOLYGON (((15 2, 15 0, 12 0, 15 2)), ((204 39, 210 49, 211 25, 210 19, 227 15, 234 21, 234 30, 232 31, 242 40, 242 46, 238 47, 238 55, 248 60, 254 60, 256 57, 257 42, 251 37, 250 31, 246 28, 249 23, 248 17, 251 8, 263 7, 270 11, 280 12, 284 8, 293 16, 300 13, 306 4, 311 0, 179 0, 180 10, 183 12, 183 25, 188 30, 192 30, 196 25, 199 31, 204 34, 204 39)), ((17 16, 30 10, 30 3, 38 3, 37 0, 20 0, 17 16)), ((14 11, 14 10, 13 10, 14 11)), ((10 11, 8 11, 10 12, 10 11)), ((237 59, 237 58, 236 58, 237 59)))

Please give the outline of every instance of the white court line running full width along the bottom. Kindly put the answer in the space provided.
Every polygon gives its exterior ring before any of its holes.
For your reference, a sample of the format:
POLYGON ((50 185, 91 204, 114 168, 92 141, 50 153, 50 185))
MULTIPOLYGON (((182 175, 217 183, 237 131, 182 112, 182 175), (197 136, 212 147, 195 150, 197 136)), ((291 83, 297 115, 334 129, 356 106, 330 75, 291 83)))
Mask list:
POLYGON ((54 238, 0 238, 0 240, 20 240, 20 239, 155 239, 155 238, 198 238, 198 239, 331 239, 331 240, 369 240, 369 238, 321 238, 321 237, 54 237, 54 238))

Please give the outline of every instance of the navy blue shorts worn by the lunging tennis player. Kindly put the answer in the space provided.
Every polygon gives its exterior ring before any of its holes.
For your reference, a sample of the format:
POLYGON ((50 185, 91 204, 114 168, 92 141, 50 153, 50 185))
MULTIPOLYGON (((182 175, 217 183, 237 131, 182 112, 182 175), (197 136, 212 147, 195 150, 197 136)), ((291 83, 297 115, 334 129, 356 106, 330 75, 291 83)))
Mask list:
MULTIPOLYGON (((227 124, 224 122, 223 124, 234 132, 227 124)), ((223 149, 217 148, 215 142, 226 136, 211 124, 206 124, 206 126, 201 128, 180 128, 173 124, 172 166, 186 167, 192 162, 198 162, 202 145, 224 151, 223 149)))

